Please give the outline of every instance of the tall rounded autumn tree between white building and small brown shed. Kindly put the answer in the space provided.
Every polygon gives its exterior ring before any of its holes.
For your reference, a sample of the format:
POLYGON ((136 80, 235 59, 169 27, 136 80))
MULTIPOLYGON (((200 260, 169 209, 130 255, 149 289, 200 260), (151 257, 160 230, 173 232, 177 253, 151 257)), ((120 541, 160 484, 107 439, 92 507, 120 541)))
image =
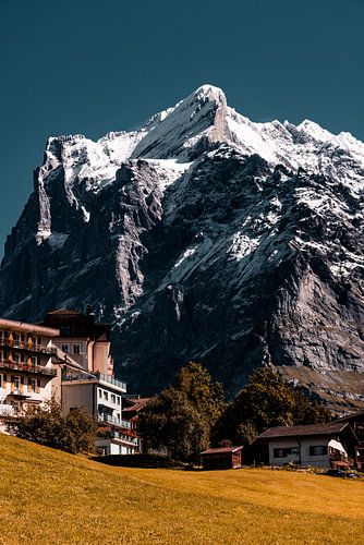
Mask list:
POLYGON ((145 447, 192 462, 208 448, 211 426, 223 407, 221 385, 201 364, 190 362, 142 411, 138 432, 145 447))

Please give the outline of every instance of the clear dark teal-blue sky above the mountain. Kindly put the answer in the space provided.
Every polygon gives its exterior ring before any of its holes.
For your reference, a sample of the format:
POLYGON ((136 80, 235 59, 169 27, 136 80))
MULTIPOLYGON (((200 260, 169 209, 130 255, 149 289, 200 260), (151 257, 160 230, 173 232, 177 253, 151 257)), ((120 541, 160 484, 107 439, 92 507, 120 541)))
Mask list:
POLYGON ((0 0, 0 254, 49 135, 132 129, 204 83, 364 140, 363 0, 0 0))

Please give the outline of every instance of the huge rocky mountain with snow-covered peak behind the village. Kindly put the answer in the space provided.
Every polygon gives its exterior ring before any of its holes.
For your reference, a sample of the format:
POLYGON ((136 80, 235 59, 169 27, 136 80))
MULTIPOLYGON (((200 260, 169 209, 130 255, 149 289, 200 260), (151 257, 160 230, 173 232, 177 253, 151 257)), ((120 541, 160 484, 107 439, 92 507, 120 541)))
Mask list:
POLYGON ((130 390, 189 360, 364 403, 364 144, 253 123, 205 85, 139 131, 51 137, 9 235, 0 315, 90 304, 130 390))

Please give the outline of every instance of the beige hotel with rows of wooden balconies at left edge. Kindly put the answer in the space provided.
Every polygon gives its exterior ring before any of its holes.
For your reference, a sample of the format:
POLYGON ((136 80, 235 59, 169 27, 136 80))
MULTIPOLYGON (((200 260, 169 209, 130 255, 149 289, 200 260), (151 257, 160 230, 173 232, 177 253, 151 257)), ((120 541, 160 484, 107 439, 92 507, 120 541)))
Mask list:
POLYGON ((0 416, 60 399, 60 370, 52 365, 57 328, 0 318, 0 416))

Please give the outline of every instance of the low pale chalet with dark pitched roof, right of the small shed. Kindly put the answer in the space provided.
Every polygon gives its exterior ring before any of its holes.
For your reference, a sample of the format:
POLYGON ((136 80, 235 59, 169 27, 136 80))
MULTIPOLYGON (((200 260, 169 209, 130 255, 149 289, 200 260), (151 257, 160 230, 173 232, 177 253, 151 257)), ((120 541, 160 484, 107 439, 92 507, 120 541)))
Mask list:
POLYGON ((357 438, 349 422, 270 427, 257 438, 268 445, 269 464, 352 467, 357 438))

